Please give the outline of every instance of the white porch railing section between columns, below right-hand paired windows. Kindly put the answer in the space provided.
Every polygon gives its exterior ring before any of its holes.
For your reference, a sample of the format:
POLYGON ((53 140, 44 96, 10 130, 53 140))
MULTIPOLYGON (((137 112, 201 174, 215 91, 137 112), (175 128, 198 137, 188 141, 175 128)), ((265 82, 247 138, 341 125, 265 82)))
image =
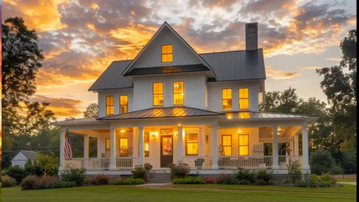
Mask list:
POLYGON ((269 168, 272 167, 272 156, 220 156, 219 168, 269 168))

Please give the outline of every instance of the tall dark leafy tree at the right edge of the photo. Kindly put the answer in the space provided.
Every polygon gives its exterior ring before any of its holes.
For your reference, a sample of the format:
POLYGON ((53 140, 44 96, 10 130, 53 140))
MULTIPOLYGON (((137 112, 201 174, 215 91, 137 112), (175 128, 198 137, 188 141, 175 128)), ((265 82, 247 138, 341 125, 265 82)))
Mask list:
POLYGON ((334 134, 344 140, 341 149, 351 151, 357 139, 357 30, 349 31, 340 48, 340 65, 317 69, 317 73, 324 76, 321 88, 330 105, 334 134))

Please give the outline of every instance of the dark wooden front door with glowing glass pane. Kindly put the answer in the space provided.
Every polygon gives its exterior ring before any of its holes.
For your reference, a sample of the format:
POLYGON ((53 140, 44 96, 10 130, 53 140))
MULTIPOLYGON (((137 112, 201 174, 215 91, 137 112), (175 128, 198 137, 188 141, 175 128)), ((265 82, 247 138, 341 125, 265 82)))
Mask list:
POLYGON ((173 162, 173 135, 161 135, 161 168, 173 162))

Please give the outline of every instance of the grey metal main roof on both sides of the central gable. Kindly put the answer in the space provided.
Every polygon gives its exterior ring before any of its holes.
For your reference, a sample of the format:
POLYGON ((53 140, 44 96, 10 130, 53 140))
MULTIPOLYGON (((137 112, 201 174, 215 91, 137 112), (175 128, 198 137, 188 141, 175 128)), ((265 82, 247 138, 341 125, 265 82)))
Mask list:
MULTIPOLYGON (((199 56, 203 58, 203 60, 205 60, 215 72, 216 78, 210 78, 208 80, 209 82, 266 78, 262 49, 251 51, 243 50, 204 53, 199 54, 199 56)), ((132 88, 132 81, 122 75, 122 72, 131 63, 131 61, 132 60, 112 62, 88 90, 96 91, 132 88)), ((130 72, 132 72, 132 70, 130 72)))

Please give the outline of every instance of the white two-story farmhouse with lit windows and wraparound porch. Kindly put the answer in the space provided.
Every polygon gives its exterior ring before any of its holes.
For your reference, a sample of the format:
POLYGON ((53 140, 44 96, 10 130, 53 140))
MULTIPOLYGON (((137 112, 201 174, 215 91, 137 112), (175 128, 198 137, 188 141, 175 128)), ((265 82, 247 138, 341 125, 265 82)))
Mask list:
POLYGON ((61 127, 61 156, 67 128, 84 136, 84 158, 60 158, 60 170, 128 174, 150 163, 160 172, 184 162, 191 173, 286 173, 291 159, 310 171, 307 126, 318 117, 259 111, 266 74, 257 26, 246 24, 246 50, 197 54, 165 22, 133 60, 113 61, 89 88, 98 117, 52 123, 61 127), (97 158, 88 156, 90 136, 97 158))

